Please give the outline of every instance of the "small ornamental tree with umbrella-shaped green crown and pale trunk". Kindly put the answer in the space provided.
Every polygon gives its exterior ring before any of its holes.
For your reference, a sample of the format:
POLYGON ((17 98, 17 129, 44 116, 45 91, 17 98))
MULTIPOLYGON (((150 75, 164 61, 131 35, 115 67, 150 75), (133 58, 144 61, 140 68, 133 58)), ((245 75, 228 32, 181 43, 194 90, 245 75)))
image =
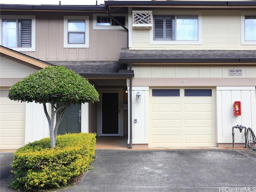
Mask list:
POLYGON ((10 87, 9 99, 42 103, 49 123, 51 148, 55 148, 58 127, 71 104, 99 101, 99 94, 86 79, 64 66, 50 66, 25 77, 10 87), (51 104, 51 113, 46 109, 51 104), (54 127, 56 113, 59 113, 54 127))

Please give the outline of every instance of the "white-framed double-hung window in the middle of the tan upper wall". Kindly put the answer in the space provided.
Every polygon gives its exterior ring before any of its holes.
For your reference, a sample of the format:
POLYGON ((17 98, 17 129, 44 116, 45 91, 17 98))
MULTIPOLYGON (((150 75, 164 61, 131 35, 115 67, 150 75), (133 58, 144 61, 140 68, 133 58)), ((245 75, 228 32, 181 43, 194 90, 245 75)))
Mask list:
POLYGON ((64 48, 89 48, 89 16, 64 16, 64 48))

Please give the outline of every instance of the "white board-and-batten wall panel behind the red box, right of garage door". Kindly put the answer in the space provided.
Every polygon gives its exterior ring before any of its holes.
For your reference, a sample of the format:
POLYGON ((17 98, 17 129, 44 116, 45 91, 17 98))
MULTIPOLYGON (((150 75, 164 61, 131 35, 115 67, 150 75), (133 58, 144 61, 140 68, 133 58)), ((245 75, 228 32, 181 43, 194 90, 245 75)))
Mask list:
MULTIPOLYGON (((256 132, 256 107, 254 86, 219 86, 217 89, 218 143, 232 143, 232 127, 243 125, 256 132), (234 101, 241 101, 241 116, 235 116, 234 101)), ((235 143, 244 143, 244 130, 234 129, 235 143)))

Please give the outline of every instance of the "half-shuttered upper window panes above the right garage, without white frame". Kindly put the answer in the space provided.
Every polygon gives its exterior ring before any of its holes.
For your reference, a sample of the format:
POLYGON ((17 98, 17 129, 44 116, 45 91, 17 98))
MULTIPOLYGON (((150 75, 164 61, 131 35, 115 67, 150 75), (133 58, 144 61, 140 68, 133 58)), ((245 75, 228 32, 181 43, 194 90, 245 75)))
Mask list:
POLYGON ((154 40, 197 41, 198 16, 154 16, 154 40))

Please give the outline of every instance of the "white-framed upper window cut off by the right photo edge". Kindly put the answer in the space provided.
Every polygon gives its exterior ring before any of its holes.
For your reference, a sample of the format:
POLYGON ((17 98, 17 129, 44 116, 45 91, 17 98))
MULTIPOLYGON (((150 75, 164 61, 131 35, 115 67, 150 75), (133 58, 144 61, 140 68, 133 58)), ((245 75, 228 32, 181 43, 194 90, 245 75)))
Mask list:
POLYGON ((241 12, 241 44, 256 44, 256 14, 241 12))

